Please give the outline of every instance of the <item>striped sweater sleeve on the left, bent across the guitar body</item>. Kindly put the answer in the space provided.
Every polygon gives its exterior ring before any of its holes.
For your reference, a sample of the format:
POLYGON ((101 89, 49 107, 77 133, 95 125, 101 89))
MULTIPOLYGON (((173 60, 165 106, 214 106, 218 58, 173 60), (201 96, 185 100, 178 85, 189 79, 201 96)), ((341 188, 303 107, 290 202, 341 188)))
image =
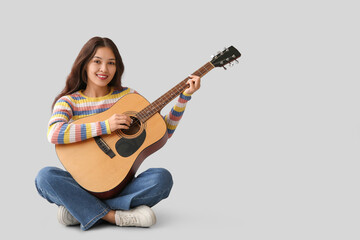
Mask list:
POLYGON ((71 123, 73 117, 73 103, 71 98, 60 98, 53 109, 50 118, 47 138, 54 144, 68 144, 83 141, 91 137, 110 134, 108 120, 86 124, 71 123))

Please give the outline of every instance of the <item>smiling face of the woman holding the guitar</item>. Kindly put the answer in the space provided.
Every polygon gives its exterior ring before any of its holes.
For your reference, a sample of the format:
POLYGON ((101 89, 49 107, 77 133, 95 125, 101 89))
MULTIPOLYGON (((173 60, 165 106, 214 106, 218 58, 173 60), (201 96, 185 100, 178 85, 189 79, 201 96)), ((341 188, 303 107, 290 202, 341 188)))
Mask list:
POLYGON ((97 87, 106 87, 116 73, 115 55, 108 47, 97 49, 86 68, 88 82, 97 87))

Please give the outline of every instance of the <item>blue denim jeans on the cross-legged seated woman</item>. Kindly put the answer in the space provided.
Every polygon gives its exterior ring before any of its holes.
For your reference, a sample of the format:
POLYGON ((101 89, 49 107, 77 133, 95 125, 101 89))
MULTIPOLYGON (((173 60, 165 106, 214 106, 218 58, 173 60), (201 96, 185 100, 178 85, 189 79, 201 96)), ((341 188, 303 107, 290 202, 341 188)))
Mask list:
POLYGON ((150 168, 134 178, 116 197, 100 200, 80 187, 68 172, 45 167, 38 173, 35 185, 43 198, 66 207, 80 222, 81 229, 87 230, 110 210, 154 206, 169 196, 173 181, 166 169, 150 168))

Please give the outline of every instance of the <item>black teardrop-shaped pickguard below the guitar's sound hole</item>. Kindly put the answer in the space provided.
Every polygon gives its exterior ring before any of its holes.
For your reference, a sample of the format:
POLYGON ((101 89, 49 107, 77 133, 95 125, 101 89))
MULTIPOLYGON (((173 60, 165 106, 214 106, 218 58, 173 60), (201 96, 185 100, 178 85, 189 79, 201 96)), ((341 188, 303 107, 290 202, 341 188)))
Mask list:
POLYGON ((137 136, 136 138, 120 138, 116 144, 115 148, 118 154, 122 157, 129 157, 133 155, 144 143, 146 138, 146 131, 145 129, 143 132, 137 136))

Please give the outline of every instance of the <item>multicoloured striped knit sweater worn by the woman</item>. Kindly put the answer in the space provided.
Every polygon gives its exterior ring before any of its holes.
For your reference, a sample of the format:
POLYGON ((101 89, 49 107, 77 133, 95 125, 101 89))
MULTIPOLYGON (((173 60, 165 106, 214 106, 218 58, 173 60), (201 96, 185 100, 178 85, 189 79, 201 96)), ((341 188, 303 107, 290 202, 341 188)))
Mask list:
MULTIPOLYGON (((110 93, 103 97, 90 98, 81 91, 61 97, 54 105, 53 113, 49 121, 47 137, 54 144, 67 144, 83 141, 91 137, 110 134, 109 121, 93 122, 86 124, 75 124, 73 121, 101 113, 109 109, 120 98, 129 93, 137 93, 131 88, 122 90, 111 89, 110 93)), ((181 94, 171 109, 164 116, 167 126, 168 137, 174 133, 184 113, 186 103, 191 96, 181 94)))

